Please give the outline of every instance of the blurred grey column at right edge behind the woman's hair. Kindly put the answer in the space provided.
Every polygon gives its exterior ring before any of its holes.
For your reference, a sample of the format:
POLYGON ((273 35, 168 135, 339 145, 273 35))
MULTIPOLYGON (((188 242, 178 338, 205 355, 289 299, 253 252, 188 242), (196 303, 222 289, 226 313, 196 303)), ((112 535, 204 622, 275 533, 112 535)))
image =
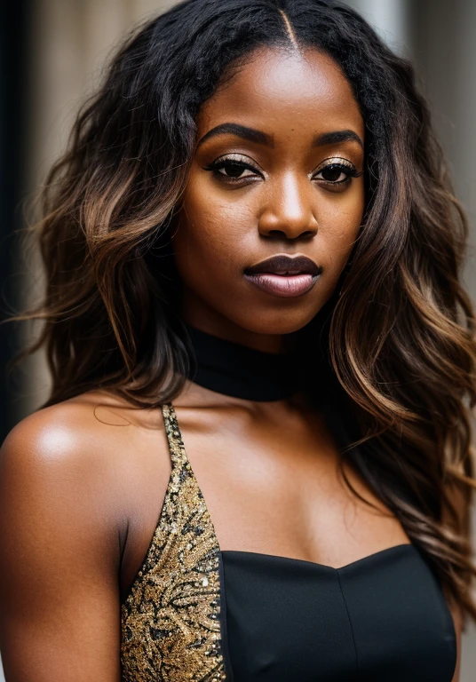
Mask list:
POLYGON ((451 164, 456 194, 470 218, 465 279, 476 299, 476 2, 419 0, 412 6, 412 17, 417 67, 451 164))

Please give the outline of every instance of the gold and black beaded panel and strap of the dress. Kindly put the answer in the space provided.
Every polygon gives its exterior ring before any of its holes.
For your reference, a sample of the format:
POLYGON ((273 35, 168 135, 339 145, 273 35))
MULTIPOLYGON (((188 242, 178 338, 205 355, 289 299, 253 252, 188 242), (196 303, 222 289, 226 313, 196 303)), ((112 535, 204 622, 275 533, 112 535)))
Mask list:
POLYGON ((163 405, 171 478, 155 533, 122 605, 123 682, 221 682, 218 540, 178 428, 163 405))

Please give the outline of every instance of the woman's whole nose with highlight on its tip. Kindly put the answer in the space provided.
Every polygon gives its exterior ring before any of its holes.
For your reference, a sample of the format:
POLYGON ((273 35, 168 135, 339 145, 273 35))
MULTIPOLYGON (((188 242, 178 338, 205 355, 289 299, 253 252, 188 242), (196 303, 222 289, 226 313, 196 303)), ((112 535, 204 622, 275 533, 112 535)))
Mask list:
POLYGON ((313 237, 317 220, 313 213, 313 186, 305 178, 287 175, 268 190, 266 206, 258 219, 258 231, 263 236, 285 236, 288 239, 313 237))

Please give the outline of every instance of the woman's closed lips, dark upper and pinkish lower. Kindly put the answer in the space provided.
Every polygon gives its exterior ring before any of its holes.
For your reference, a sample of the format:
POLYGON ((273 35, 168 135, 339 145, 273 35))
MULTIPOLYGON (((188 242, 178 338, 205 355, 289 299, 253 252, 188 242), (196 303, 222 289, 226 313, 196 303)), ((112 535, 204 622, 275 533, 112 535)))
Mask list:
POLYGON ((278 297, 302 296, 311 289, 322 273, 311 258, 278 254, 245 268, 244 276, 251 284, 278 297))

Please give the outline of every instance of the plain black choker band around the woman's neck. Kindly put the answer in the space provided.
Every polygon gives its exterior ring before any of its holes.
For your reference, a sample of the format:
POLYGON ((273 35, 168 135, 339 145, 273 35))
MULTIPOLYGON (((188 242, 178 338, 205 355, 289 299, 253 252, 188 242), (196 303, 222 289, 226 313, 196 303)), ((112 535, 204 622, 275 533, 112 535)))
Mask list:
POLYGON ((195 384, 245 400, 285 400, 298 390, 296 357, 265 353, 214 337, 186 324, 195 366, 195 384))

